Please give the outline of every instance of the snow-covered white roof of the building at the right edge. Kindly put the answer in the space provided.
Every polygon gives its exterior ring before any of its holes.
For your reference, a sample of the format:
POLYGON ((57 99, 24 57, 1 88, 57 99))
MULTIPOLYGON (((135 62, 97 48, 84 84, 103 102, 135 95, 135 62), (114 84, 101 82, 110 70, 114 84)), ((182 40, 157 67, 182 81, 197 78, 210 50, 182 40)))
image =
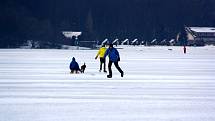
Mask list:
POLYGON ((215 33, 215 27, 189 27, 189 29, 199 33, 215 33))

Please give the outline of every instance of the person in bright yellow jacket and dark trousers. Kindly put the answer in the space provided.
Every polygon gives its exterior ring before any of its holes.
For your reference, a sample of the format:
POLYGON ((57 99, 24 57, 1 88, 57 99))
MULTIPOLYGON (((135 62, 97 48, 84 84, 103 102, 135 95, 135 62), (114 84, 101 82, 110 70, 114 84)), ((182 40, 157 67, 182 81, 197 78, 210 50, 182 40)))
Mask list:
POLYGON ((105 52, 106 52, 107 48, 105 47, 105 45, 102 45, 102 47, 99 49, 95 59, 100 58, 100 72, 102 71, 102 64, 104 64, 104 72, 106 73, 106 59, 104 58, 105 52))

